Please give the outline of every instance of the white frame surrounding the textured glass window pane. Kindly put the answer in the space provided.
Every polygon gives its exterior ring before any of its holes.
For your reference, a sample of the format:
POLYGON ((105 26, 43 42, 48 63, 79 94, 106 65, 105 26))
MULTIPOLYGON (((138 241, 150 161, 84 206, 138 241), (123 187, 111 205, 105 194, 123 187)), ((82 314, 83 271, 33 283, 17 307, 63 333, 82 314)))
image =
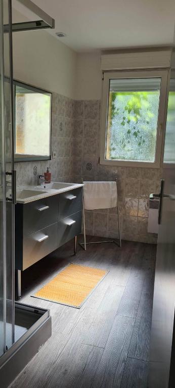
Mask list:
POLYGON ((103 90, 102 90, 102 108, 101 108, 101 136, 100 136, 100 164, 123 166, 123 167, 149 167, 160 168, 162 143, 165 130, 166 106, 167 106, 167 81, 169 69, 157 70, 132 70, 132 71, 114 71, 104 72, 103 90), (109 100, 109 82, 110 79, 129 79, 129 78, 161 78, 159 111, 157 121, 156 150, 154 162, 123 161, 115 159, 106 159, 106 138, 108 121, 108 100, 109 100))

